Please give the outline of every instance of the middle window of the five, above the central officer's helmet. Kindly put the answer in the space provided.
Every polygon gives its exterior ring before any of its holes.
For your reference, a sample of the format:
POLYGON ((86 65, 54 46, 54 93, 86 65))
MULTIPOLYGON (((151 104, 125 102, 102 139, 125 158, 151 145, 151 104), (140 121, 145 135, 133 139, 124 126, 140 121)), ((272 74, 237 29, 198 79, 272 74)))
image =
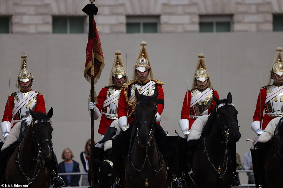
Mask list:
POLYGON ((127 16, 126 33, 158 33, 159 16, 127 16))

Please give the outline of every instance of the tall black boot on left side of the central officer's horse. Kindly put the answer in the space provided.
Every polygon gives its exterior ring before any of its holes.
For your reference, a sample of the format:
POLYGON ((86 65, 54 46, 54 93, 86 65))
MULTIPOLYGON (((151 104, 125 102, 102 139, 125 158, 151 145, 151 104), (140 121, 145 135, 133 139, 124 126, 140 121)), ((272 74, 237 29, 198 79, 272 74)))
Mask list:
POLYGON ((112 138, 112 157, 113 157, 113 177, 115 183, 111 188, 121 188, 123 185, 123 155, 121 149, 117 147, 115 138, 112 138))

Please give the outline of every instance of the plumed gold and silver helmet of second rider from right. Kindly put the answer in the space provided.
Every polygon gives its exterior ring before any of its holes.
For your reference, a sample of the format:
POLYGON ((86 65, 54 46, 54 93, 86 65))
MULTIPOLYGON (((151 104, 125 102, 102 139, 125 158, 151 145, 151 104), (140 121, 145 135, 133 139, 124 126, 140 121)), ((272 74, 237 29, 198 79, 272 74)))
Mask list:
POLYGON ((194 79, 193 79, 193 84, 192 84, 192 88, 195 88, 197 85, 196 80, 199 80, 201 82, 204 82, 205 80, 207 81, 207 87, 210 87, 211 89, 213 88, 212 83, 209 79, 209 74, 207 71, 207 67, 205 65, 205 61, 204 61, 204 55, 203 54, 199 54, 198 55, 198 62, 197 62, 197 68, 196 71, 194 73, 194 79))

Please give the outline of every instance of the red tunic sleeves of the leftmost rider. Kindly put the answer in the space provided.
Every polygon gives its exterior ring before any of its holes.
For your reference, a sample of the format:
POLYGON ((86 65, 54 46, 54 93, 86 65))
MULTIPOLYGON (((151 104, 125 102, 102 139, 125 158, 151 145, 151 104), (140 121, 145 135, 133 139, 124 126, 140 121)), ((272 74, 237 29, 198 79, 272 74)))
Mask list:
MULTIPOLYGON (((12 118, 14 120, 19 120, 19 118, 15 115, 14 117, 12 117, 12 110, 15 107, 14 105, 14 96, 10 95, 9 99, 7 100, 6 106, 5 106, 5 110, 4 110, 4 115, 3 115, 3 121, 12 121, 12 118), (8 104, 9 101, 9 104, 8 104), (9 106, 9 110, 8 110, 8 106, 9 106)), ((45 101, 43 98, 42 94, 38 94, 36 95, 36 104, 34 107, 34 112, 42 112, 42 113, 46 113, 46 109, 45 109, 45 101)), ((13 123, 13 126, 16 124, 16 122, 13 123)), ((13 127, 12 126, 12 127, 13 127)))

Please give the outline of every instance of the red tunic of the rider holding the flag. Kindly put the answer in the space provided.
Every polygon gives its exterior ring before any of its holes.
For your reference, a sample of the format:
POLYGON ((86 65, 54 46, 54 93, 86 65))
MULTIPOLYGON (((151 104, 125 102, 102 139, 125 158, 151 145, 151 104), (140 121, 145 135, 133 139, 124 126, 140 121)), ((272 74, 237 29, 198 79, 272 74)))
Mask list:
MULTIPOLYGON (((107 106, 105 106, 102 109, 103 102, 106 100, 107 91, 108 91, 108 87, 103 87, 100 90, 100 92, 99 92, 99 94, 97 96, 96 108, 99 109, 100 113, 101 113, 101 111, 107 113, 107 106)), ((98 133, 99 134, 105 134, 107 128, 112 123, 112 121, 114 121, 114 119, 106 118, 106 116, 104 114, 101 114, 101 119, 100 119, 100 123, 99 123, 98 133)))

